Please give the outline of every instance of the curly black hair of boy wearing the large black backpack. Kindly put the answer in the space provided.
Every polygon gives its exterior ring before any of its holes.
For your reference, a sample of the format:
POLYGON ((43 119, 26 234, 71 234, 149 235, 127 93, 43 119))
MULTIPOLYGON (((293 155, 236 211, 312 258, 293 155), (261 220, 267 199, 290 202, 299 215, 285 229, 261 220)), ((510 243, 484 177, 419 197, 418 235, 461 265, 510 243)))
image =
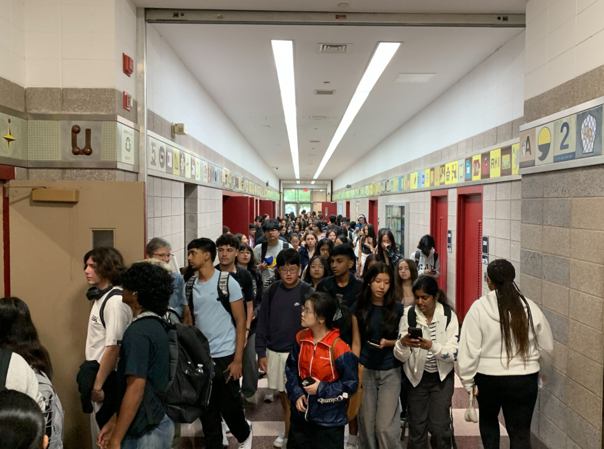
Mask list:
POLYGON ((162 267, 137 262, 121 276, 121 285, 126 290, 138 293, 138 304, 145 310, 163 315, 168 310, 172 295, 172 275, 162 267))

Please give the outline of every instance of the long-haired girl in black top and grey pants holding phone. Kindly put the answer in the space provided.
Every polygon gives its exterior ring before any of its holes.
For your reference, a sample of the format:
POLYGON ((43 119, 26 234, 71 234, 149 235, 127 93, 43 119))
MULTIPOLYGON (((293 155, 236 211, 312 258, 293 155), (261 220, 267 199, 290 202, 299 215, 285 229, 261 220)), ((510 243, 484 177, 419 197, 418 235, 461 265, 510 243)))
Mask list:
POLYGON ((374 263, 364 275, 361 296, 352 306, 353 332, 361 335, 363 395, 359 409, 359 447, 391 449, 400 445, 400 361, 394 357, 404 307, 397 301, 394 275, 374 263))

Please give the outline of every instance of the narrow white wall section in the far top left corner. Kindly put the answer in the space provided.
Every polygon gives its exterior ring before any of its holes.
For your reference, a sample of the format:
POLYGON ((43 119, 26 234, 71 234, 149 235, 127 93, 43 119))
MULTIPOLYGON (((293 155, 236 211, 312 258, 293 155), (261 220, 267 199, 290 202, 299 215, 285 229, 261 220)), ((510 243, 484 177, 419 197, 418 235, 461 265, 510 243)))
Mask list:
POLYGON ((0 2, 0 77, 25 85, 25 5, 0 2))

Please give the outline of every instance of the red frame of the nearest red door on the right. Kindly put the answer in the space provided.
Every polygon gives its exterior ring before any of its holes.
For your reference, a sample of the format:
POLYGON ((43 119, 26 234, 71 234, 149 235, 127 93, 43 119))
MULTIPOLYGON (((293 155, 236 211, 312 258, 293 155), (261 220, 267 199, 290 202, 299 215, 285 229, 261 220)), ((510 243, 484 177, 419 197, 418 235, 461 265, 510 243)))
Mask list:
MULTIPOLYGON (((480 214, 481 219, 478 221, 478 235, 476 240, 476 252, 478 257, 478 288, 477 288, 477 296, 476 298, 464 298, 464 264, 466 261, 463 259, 463 249, 466 244, 465 242, 465 229, 466 223, 464 218, 464 209, 465 209, 465 198, 472 195, 480 195, 480 205, 483 204, 483 186, 471 186, 471 187, 461 187, 457 189, 457 231, 456 231, 456 241, 457 244, 457 252, 455 256, 455 313, 458 316, 460 322, 463 322, 464 317, 466 316, 467 311, 470 309, 472 302, 476 301, 478 298, 482 296, 483 290, 483 282, 482 282, 482 270, 483 270, 483 262, 482 262, 482 235, 483 235, 483 218, 482 213, 480 214)), ((482 211, 481 211, 482 212, 482 211)))

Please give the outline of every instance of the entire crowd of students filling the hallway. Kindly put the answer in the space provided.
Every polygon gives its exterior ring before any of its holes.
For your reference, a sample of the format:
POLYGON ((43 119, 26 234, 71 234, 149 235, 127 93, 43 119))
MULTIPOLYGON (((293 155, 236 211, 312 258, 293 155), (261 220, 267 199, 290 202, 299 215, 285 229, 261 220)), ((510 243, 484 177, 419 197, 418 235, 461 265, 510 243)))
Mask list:
MULTIPOLYGON (((242 404, 257 403, 259 370, 283 408, 275 447, 392 449, 407 426, 409 449, 425 449, 428 432, 433 448, 451 448, 455 360, 480 404, 484 447, 499 447, 503 409, 510 448, 529 448, 540 357, 553 342, 512 264, 489 264, 492 291, 460 331, 436 280, 434 238, 422 237, 405 258, 391 231, 376 234, 358 218, 257 217, 247 235, 225 229, 216 242, 188 243, 181 270, 162 238, 127 268, 117 249, 86 253, 92 307, 77 383, 93 448, 178 447, 179 424, 164 400, 173 377, 169 313, 199 331, 213 361, 198 365, 213 372, 199 406, 208 449, 228 445, 227 427, 251 448, 242 404)), ((62 448, 50 355, 27 304, 0 299, 0 328, 0 449, 62 448)))

